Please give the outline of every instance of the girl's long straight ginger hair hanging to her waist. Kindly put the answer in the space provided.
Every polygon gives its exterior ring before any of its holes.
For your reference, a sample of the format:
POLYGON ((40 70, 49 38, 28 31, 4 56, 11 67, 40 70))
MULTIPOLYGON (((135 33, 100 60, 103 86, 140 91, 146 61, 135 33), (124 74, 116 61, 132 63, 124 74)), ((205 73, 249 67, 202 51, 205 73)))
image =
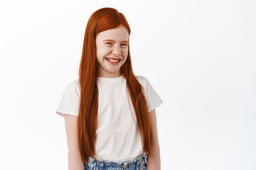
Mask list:
MULTIPOLYGON (((90 16, 85 28, 85 38, 82 46, 82 56, 79 68, 80 108, 78 115, 78 141, 83 162, 88 157, 95 158, 95 138, 97 130, 98 111, 98 62, 95 37, 97 33, 122 25, 130 35, 129 24, 122 13, 115 8, 100 8, 90 16)), ((127 60, 120 68, 127 80, 127 89, 136 112, 137 128, 142 138, 142 147, 146 154, 152 154, 152 132, 149 113, 146 108, 146 98, 142 93, 142 85, 137 81, 132 71, 132 61, 129 47, 127 60)))

